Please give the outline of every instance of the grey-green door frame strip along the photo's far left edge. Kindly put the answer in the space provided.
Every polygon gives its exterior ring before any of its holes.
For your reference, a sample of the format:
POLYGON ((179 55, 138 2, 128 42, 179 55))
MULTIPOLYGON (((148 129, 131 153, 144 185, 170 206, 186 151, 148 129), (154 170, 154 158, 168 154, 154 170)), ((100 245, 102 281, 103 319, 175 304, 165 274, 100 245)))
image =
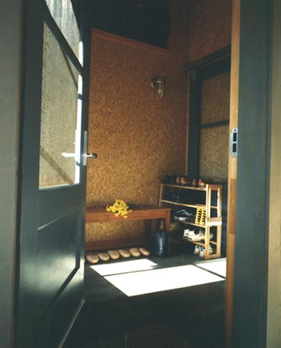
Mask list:
POLYGON ((13 347, 19 118, 22 74, 22 0, 0 6, 0 346, 13 347))

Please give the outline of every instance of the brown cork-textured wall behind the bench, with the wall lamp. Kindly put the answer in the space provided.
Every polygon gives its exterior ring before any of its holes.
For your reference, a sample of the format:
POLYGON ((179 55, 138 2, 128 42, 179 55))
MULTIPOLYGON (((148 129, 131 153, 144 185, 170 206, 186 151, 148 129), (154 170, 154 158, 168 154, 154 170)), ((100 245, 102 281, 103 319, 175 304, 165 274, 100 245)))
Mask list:
MULTIPOLYGON (((173 30, 177 38, 184 32, 180 22, 173 30)), ((172 39, 158 49, 94 29, 92 40, 88 150, 99 157, 88 166, 87 205, 115 198, 157 205, 161 177, 185 169, 187 38, 181 52, 172 39), (150 86, 154 77, 166 80, 162 99, 150 86)), ((137 221, 86 225, 91 242, 143 232, 137 221)))

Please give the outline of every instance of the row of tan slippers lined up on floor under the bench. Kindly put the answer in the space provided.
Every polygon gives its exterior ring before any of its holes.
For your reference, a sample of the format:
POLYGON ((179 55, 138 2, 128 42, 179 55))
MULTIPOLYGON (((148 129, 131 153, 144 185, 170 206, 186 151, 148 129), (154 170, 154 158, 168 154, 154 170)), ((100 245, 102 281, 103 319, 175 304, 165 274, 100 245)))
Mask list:
POLYGON ((109 250, 107 253, 86 253, 86 260, 90 264, 96 264, 99 260, 106 262, 110 259, 118 260, 120 257, 125 259, 131 258, 131 256, 138 258, 140 255, 149 256, 150 251, 146 248, 130 248, 129 251, 127 249, 119 249, 109 250))

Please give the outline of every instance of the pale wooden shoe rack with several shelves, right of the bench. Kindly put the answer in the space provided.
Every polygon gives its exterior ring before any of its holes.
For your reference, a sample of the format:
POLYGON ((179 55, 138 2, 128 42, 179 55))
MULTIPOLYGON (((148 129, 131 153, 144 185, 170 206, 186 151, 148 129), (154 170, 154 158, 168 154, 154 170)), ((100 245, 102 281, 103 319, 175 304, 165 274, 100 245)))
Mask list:
MULTIPOLYGON (((201 242, 193 242, 188 239, 182 238, 184 242, 193 243, 205 248, 204 259, 214 259, 220 258, 220 245, 221 245, 221 231, 222 231, 222 193, 223 187, 219 184, 205 184, 201 187, 187 186, 179 184, 160 184, 160 194, 159 194, 159 206, 169 205, 170 207, 179 207, 184 209, 187 208, 188 211, 193 211, 195 214, 195 219, 193 221, 179 221, 186 225, 186 228, 202 228, 205 232, 205 238, 201 242), (202 191, 203 194, 200 195, 198 203, 195 203, 193 195, 192 202, 188 203, 188 200, 182 198, 175 200, 172 198, 171 192, 179 190, 195 190, 202 191), (202 198, 204 197, 204 198, 202 198), (214 231, 214 239, 210 240, 210 234, 214 231), (209 246, 214 250, 214 253, 209 253, 209 246)), ((178 195, 180 196, 180 194, 178 195)), ((174 209, 175 210, 175 209, 174 209)))

